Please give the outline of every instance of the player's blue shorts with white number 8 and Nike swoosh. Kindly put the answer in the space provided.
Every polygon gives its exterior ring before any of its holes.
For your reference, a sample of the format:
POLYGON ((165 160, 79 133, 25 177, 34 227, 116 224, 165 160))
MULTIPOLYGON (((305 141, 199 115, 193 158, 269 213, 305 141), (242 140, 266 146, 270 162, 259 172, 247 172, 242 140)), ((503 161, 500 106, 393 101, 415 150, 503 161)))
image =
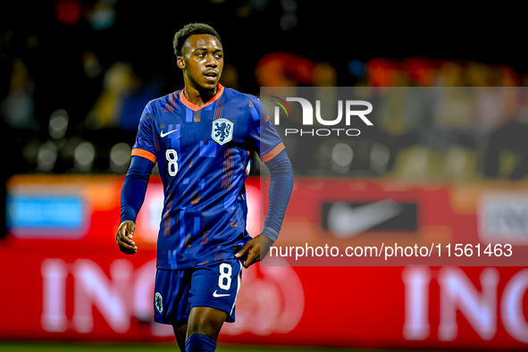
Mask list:
POLYGON ((235 303, 242 279, 238 259, 200 265, 182 270, 158 269, 155 274, 154 321, 182 325, 193 306, 210 306, 235 321, 235 303))

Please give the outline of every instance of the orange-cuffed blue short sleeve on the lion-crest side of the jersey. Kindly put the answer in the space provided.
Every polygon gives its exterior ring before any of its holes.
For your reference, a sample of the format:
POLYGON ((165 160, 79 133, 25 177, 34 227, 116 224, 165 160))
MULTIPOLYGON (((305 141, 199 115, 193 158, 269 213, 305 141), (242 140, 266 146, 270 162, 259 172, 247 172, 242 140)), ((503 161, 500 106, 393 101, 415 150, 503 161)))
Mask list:
POLYGON ((270 119, 260 99, 256 96, 252 96, 250 99, 252 104, 250 104, 249 137, 255 142, 256 152, 260 156, 260 160, 264 163, 269 162, 284 150, 284 143, 273 127, 272 119, 270 119))

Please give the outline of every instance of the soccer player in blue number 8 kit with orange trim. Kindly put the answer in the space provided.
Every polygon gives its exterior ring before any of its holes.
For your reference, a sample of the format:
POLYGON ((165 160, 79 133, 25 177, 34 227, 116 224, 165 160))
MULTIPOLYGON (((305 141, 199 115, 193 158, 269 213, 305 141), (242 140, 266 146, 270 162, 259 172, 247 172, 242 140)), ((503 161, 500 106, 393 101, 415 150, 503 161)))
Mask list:
POLYGON ((259 99, 218 83, 218 33, 189 24, 173 45, 185 88, 150 101, 141 115, 116 240, 122 252, 137 253, 135 221, 157 162, 164 205, 155 322, 172 324, 182 351, 214 351, 222 324, 235 320, 242 266, 263 259, 279 235, 293 172, 259 99), (264 230, 251 239, 244 181, 255 152, 269 168, 271 184, 264 230))

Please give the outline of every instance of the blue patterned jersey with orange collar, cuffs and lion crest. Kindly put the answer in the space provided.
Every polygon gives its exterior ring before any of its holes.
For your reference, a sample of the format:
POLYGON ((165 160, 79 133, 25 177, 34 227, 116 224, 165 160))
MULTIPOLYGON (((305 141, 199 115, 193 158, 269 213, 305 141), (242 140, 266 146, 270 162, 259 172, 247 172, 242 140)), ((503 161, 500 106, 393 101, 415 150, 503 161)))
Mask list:
POLYGON ((182 90, 150 101, 132 155, 157 161, 163 180, 158 269, 234 258, 250 239, 244 181, 253 152, 266 162, 283 149, 256 96, 219 84, 203 106, 182 90))

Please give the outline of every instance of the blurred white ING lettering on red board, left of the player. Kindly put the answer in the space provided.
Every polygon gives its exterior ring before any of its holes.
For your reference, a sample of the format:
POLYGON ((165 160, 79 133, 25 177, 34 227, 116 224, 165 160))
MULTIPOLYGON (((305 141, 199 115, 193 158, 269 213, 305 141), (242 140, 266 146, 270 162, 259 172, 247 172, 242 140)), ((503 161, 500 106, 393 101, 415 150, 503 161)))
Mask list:
POLYGON ((155 260, 140 267, 135 272, 135 280, 132 280, 133 272, 133 265, 125 259, 113 261, 110 279, 98 264, 88 259, 78 259, 73 264, 66 264, 62 259, 46 259, 41 265, 42 328, 63 332, 72 327, 77 332, 91 332, 94 329, 93 306, 96 306, 113 331, 128 331, 131 314, 141 320, 152 315, 155 260), (66 316, 65 304, 69 274, 74 282, 72 324, 66 316), (134 299, 124 299, 130 296, 129 292, 135 292, 134 299))

